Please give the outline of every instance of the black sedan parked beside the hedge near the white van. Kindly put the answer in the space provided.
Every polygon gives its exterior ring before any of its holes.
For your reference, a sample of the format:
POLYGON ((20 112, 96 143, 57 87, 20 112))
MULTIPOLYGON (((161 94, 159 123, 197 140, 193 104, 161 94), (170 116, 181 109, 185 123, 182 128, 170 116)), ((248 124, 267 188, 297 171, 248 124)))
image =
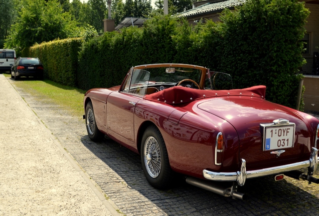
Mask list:
POLYGON ((43 65, 39 58, 18 57, 11 67, 11 78, 19 79, 21 76, 34 76, 43 79, 43 65))

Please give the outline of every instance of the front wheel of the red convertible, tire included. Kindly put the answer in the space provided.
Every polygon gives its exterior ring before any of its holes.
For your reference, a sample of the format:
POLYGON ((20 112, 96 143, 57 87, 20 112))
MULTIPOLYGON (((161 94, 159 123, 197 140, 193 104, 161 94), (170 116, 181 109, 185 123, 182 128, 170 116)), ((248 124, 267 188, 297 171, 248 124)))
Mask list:
POLYGON ((99 141, 104 134, 97 128, 92 102, 88 102, 85 108, 85 124, 87 134, 93 141, 99 141))

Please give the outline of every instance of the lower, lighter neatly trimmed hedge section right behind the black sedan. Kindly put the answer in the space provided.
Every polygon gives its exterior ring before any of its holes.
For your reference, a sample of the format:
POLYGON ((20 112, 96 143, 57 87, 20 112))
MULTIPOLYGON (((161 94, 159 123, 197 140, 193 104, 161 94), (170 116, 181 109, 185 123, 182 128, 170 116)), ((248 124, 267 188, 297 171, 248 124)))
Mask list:
POLYGON ((64 85, 77 85, 78 52, 82 38, 54 40, 30 47, 28 55, 39 57, 45 76, 64 85))

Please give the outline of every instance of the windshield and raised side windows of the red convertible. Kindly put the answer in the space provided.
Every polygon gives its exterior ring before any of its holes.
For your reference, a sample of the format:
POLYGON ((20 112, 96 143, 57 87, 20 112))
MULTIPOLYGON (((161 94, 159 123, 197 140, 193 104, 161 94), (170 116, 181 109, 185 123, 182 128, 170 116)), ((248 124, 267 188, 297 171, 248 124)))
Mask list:
POLYGON ((145 95, 173 86, 207 90, 233 89, 229 74, 204 69, 203 67, 195 68, 193 65, 189 67, 180 65, 153 67, 151 65, 143 69, 131 68, 121 91, 145 95), (202 78, 201 75, 203 75, 202 78))

